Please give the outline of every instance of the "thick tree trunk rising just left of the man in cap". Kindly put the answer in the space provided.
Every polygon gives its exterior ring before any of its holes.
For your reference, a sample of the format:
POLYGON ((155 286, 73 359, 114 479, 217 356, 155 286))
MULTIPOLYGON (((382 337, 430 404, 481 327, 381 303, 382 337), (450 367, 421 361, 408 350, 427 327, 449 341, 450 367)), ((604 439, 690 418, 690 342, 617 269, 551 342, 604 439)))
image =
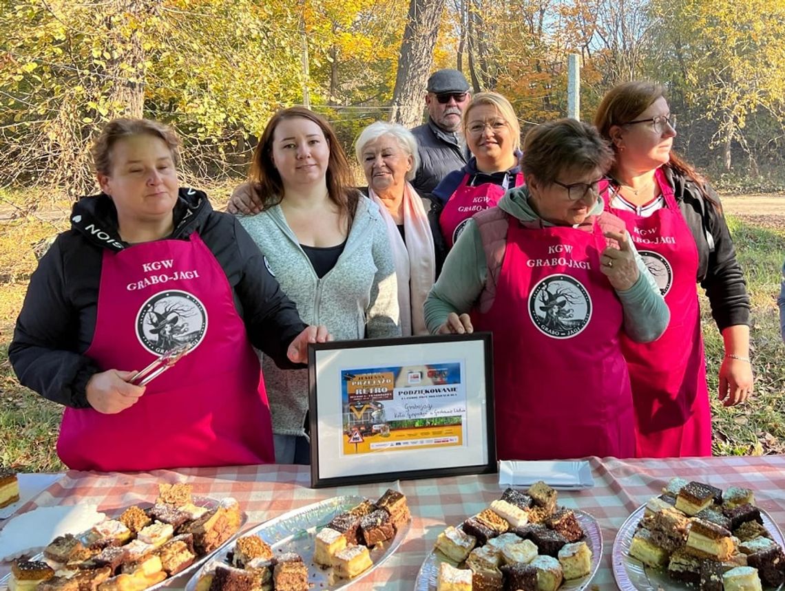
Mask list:
POLYGON ((433 49, 443 9, 444 0, 411 0, 409 3, 390 114, 391 121, 406 127, 422 122, 422 96, 433 66, 433 49))

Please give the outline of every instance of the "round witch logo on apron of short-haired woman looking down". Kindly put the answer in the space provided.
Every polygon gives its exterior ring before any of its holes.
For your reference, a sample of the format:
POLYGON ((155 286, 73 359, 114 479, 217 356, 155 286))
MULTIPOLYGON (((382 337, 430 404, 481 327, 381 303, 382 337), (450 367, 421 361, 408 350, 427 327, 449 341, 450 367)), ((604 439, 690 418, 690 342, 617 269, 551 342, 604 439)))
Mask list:
POLYGON ((529 316, 540 332, 553 339, 578 335, 591 320, 589 292, 569 275, 544 277, 529 295, 529 316))

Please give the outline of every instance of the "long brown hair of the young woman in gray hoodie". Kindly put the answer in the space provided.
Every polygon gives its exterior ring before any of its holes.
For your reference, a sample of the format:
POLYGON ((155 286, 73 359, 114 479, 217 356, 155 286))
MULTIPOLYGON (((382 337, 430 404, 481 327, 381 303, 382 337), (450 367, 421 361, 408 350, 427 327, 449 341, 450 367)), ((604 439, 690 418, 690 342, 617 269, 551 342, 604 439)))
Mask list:
POLYGON ((354 177, 352 169, 349 168, 349 160, 330 124, 321 115, 305 107, 290 107, 276 112, 267 122, 265 132, 261 134, 259 143, 254 149, 248 179, 261 198, 262 208, 271 208, 283 199, 283 180, 272 163, 272 136, 275 135, 276 127, 281 121, 293 118, 313 121, 322 130, 330 147, 330 158, 327 161, 327 193, 330 201, 338 205, 341 216, 347 216, 351 227, 360 193, 353 188, 354 177))

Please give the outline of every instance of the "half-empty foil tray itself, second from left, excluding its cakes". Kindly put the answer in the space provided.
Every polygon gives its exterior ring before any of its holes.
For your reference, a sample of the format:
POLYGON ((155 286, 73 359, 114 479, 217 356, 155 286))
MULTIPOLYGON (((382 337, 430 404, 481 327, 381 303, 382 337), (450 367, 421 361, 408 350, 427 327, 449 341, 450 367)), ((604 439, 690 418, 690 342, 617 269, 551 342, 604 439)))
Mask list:
MULTIPOLYGON (((294 509, 289 513, 265 521, 265 523, 258 525, 250 531, 244 531, 242 536, 245 538, 248 535, 257 535, 264 542, 267 542, 276 554, 286 552, 298 553, 303 562, 308 566, 308 582, 311 589, 341 589, 341 587, 355 583, 361 578, 365 577, 368 573, 382 564, 385 560, 392 556, 396 551, 400 542, 409 533, 411 527, 411 520, 396 532, 395 538, 389 540, 385 544, 379 544, 374 548, 369 548, 371 553, 371 561, 374 565, 363 571, 355 578, 336 578, 333 575, 332 568, 323 568, 313 562, 313 538, 316 533, 327 525, 333 517, 340 513, 345 513, 352 507, 357 506, 363 502, 365 497, 357 495, 345 495, 340 497, 333 497, 320 502, 315 502, 312 505, 294 509)), ((213 561, 217 560, 228 564, 227 554, 232 552, 235 544, 227 544, 217 552, 213 561)), ((213 562, 211 561, 211 562, 213 562)), ((203 574, 205 567, 200 568, 188 585, 185 586, 185 591, 195 591, 196 583, 203 574)))

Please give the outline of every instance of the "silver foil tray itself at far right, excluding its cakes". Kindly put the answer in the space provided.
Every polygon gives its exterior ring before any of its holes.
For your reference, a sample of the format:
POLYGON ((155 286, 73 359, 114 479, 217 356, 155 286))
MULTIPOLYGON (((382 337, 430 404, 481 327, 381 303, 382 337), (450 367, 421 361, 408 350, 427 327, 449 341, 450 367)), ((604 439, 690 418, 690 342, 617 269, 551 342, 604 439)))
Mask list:
MULTIPOLYGON (((645 566, 637 558, 630 556, 630 544, 632 543, 633 535, 637 528, 638 522, 643 518, 645 505, 641 505, 633 511, 630 517, 619 528, 616 534, 616 539, 613 542, 613 578, 616 579, 616 584, 621 591, 683 591, 684 589, 695 589, 694 586, 688 586, 687 583, 681 581, 674 581, 668 575, 665 568, 652 568, 645 566)), ((780 546, 785 547, 785 540, 783 540, 783 533, 777 524, 774 523, 769 513, 758 507, 763 519, 763 525, 775 542, 780 546)), ((780 585, 776 589, 782 589, 780 585)), ((773 589, 772 587, 765 587, 765 589, 773 589)))

